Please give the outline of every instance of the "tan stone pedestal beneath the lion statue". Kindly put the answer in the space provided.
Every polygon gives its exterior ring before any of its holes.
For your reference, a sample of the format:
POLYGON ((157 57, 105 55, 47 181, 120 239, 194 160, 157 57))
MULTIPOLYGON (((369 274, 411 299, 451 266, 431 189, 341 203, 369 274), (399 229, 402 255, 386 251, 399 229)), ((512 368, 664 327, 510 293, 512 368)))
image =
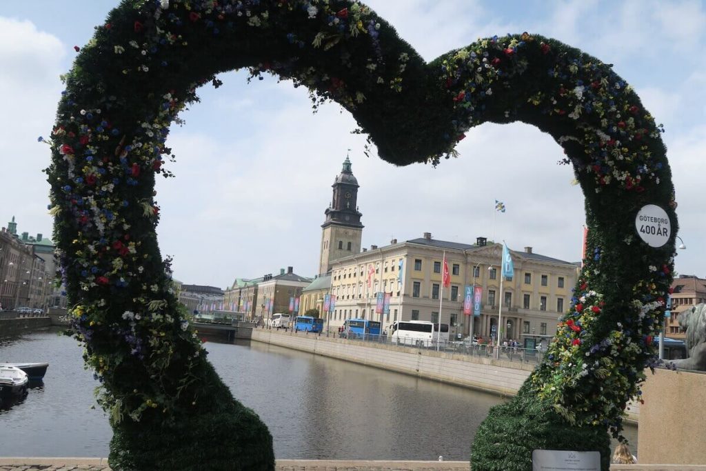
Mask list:
POLYGON ((642 398, 639 463, 706 463, 706 373, 648 370, 642 398))

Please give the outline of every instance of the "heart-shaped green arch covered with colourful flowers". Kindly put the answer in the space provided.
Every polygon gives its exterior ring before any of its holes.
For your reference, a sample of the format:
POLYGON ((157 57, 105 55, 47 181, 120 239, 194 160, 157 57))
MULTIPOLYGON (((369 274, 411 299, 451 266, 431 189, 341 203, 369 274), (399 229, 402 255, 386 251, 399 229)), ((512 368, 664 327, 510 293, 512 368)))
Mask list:
POLYGON ((474 470, 531 468, 535 448, 599 450, 654 357, 671 282, 674 189, 659 126, 607 64, 523 33, 426 64, 351 0, 124 0, 66 75, 49 143, 51 210, 73 331, 102 384, 114 469, 274 467, 272 439, 205 359, 157 246, 155 175, 179 111, 248 67, 334 100, 395 165, 438 164, 464 132, 523 121, 551 134, 586 197, 585 266, 546 360, 472 446, 474 470), (671 234, 638 237, 645 205, 671 234), (653 244, 654 245, 654 244, 653 244))

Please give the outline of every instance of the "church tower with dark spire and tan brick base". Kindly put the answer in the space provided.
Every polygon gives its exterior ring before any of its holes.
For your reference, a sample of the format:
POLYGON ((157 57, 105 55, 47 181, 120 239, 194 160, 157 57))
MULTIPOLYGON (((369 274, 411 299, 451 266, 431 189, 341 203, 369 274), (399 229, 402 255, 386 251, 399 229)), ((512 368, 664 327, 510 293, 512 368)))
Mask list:
POLYGON ((331 262, 359 254, 363 225, 358 210, 358 180, 346 157, 341 173, 333 181, 333 200, 325 210, 326 220, 321 225, 321 258, 318 272, 323 275, 331 269, 331 262))

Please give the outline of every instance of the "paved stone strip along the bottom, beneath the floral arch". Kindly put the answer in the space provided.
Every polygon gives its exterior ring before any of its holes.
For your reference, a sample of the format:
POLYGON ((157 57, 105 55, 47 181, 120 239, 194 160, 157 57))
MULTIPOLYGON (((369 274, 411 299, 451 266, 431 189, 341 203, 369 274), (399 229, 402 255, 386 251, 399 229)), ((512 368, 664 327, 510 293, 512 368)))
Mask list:
MULTIPOLYGON (((467 461, 277 460, 277 471, 469 471, 467 461)), ((0 471, 110 471, 107 458, 0 458, 0 471)), ((706 471, 706 465, 613 465, 611 471, 706 471)))

